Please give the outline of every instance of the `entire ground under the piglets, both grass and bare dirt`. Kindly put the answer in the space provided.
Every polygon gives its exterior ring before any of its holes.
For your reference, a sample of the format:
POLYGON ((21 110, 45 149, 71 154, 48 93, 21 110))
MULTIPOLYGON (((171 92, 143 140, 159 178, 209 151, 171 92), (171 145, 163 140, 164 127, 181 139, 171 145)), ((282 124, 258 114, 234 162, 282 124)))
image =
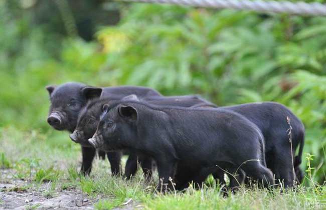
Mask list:
MULTIPOLYGON (((80 147, 66 132, 0 129, 0 208, 38 207, 96 209, 302 209, 326 207, 326 187, 299 186, 280 193, 241 188, 223 197, 214 182, 200 190, 167 195, 153 192, 141 173, 131 181, 111 177, 108 161, 95 160, 89 177, 81 177, 80 147), (211 186, 209 186, 211 185, 211 186)), ((125 158, 124 158, 125 161, 125 158)))

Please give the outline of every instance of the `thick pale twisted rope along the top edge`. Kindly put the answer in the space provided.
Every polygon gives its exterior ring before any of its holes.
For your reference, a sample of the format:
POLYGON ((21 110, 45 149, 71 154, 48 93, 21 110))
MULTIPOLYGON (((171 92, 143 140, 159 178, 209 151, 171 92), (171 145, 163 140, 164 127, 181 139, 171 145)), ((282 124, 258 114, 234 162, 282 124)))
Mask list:
POLYGON ((326 15, 326 5, 322 3, 263 1, 263 0, 125 0, 147 3, 171 3, 212 8, 249 9, 254 11, 277 12, 302 15, 326 15))

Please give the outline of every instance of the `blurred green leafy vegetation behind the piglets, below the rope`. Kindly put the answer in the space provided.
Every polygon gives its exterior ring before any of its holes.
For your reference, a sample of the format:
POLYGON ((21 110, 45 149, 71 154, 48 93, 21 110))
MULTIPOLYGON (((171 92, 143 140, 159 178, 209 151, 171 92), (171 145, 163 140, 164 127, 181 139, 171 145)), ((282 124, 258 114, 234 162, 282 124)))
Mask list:
MULTIPOLYGON (((325 181, 326 17, 110 0, 0 0, 0 17, 2 138, 37 133, 33 145, 77 151, 46 122, 44 87, 67 81, 197 93, 221 106, 270 100, 303 121, 302 169, 311 153, 311 178, 325 181)), ((2 167, 37 156, 11 152, 0 143, 2 167)))

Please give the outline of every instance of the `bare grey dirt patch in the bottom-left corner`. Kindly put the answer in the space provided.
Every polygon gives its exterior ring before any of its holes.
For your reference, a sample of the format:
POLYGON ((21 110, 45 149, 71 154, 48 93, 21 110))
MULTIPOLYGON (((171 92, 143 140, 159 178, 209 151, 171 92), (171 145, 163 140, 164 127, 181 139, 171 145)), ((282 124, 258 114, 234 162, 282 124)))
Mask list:
POLYGON ((90 199, 79 189, 51 190, 51 183, 41 186, 11 177, 12 171, 0 170, 0 209, 93 209, 97 199, 90 199))

